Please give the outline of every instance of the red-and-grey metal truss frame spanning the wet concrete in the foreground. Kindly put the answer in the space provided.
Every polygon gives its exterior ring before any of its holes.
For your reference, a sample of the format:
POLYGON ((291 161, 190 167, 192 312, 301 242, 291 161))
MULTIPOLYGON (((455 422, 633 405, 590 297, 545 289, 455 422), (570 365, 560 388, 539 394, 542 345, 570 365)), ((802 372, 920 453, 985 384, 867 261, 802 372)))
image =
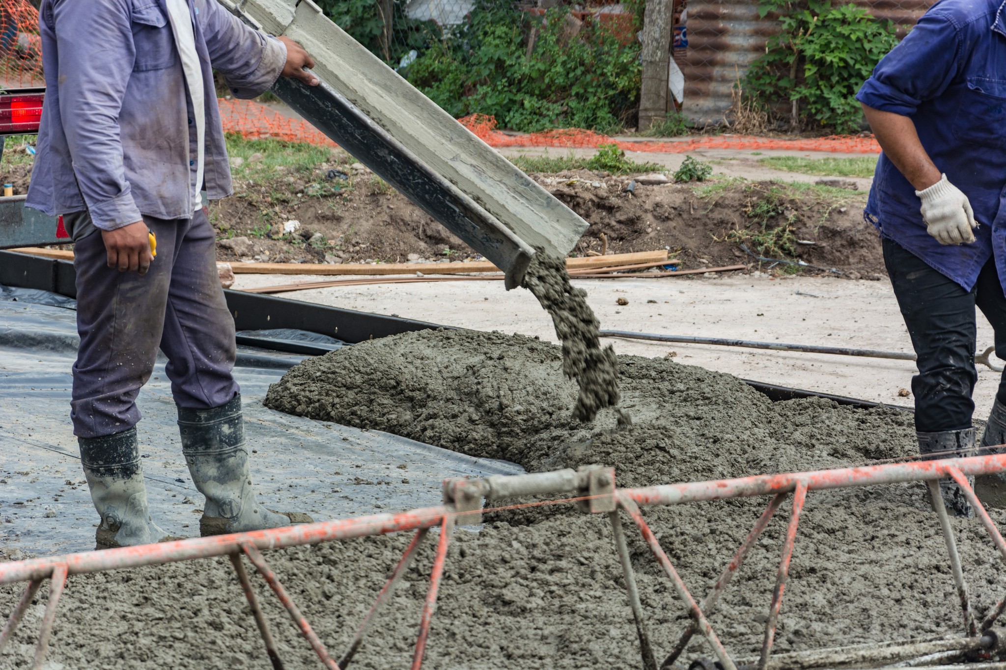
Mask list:
MULTIPOLYGON (((856 664, 859 667, 875 666, 907 667, 928 665, 932 668, 953 668, 955 666, 935 665, 954 662, 962 658, 988 661, 993 656, 1006 652, 1006 635, 993 628, 993 624, 1006 610, 1006 596, 992 608, 980 623, 975 620, 968 596, 968 587, 961 570, 957 544, 940 497, 938 479, 951 478, 958 483, 972 506, 978 519, 985 526, 993 542, 1006 559, 1006 540, 1003 539, 995 522, 982 505, 968 481, 969 476, 1006 472, 1006 454, 952 458, 946 460, 915 461, 905 463, 885 463, 860 467, 817 470, 789 474, 760 475, 736 479, 666 484, 642 488, 617 489, 615 470, 602 466, 584 466, 578 470, 558 470, 534 474, 504 476, 497 475, 482 479, 448 479, 444 482, 445 503, 435 507, 425 507, 398 514, 374 514, 336 521, 322 521, 284 528, 271 528, 252 532, 239 532, 212 537, 197 537, 156 544, 143 544, 115 549, 86 551, 61 556, 31 559, 27 561, 0 564, 0 584, 26 582, 24 593, 11 613, 6 626, 0 632, 0 649, 13 637, 18 623, 31 604, 42 582, 50 580, 49 595, 38 634, 38 643, 32 668, 40 669, 45 658, 49 638, 55 620, 56 607, 63 586, 69 575, 83 575, 112 570, 125 570, 153 566, 178 561, 207 559, 226 555, 229 557, 237 581, 240 584, 256 624, 262 634, 266 653, 273 667, 284 667, 277 645, 270 631, 269 623, 259 605, 258 597, 244 568, 243 554, 255 566, 256 571, 279 598, 290 614, 294 625, 321 660, 330 669, 344 669, 359 650, 364 636, 370 631, 374 616, 391 595, 407 572, 416 550, 429 534, 430 528, 439 527, 440 533, 430 577, 430 588, 420 619, 415 649, 411 668, 417 670, 423 665, 427 640, 434 613, 444 565, 447 560, 451 534, 457 523, 477 523, 482 514, 493 510, 529 505, 548 505, 576 502, 588 513, 607 513, 612 523, 616 550, 625 574, 629 606, 635 619, 639 635, 643 667, 647 670, 669 668, 681 655, 691 638, 702 635, 711 645, 718 662, 703 660, 696 662, 699 668, 719 667, 722 670, 808 670, 810 668, 834 668, 856 664), (808 652, 796 652, 772 656, 776 626, 782 611, 783 596, 786 591, 790 561, 793 556, 797 528, 807 495, 812 490, 871 486, 908 481, 926 481, 934 508, 939 517, 944 539, 947 543, 951 572, 961 601, 963 629, 965 637, 914 639, 898 642, 883 642, 808 652), (783 542, 776 588, 765 626, 765 640, 762 652, 754 659, 734 660, 730 657, 719 637, 708 621, 719 597, 728 586, 733 575, 743 564, 747 551, 768 526, 776 511, 790 494, 793 494, 792 509, 783 542), (484 508, 487 502, 508 498, 542 494, 573 494, 570 497, 510 505, 509 507, 484 508), (674 505, 700 500, 722 500, 727 498, 771 496, 765 511, 756 521, 750 532, 741 542, 730 562, 723 569, 719 579, 705 599, 698 603, 678 575, 670 559, 664 552, 659 540, 643 518, 641 506, 674 505), (642 533, 663 572, 670 578, 678 597, 688 608, 691 623, 682 633, 664 661, 658 666, 647 626, 645 613, 636 586, 636 576, 630 561, 626 534, 620 511, 626 512, 642 533), (357 628, 346 651, 338 661, 328 653, 307 619, 294 604, 286 589, 277 579, 263 556, 263 549, 282 548, 304 544, 379 535, 405 530, 415 534, 405 548, 398 564, 391 571, 376 601, 357 628)), ((969 666, 971 670, 1006 670, 1006 663, 985 662, 969 666)))

